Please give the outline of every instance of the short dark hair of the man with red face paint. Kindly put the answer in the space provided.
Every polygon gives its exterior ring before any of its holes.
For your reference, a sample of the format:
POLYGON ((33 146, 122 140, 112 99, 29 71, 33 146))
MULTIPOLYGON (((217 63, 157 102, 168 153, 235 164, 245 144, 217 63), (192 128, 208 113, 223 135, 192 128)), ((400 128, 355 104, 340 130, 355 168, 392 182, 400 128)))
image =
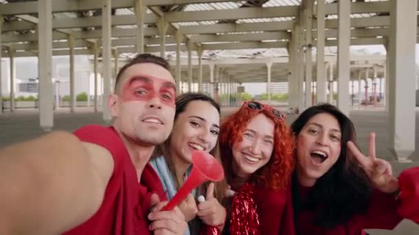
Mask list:
POLYGON ((124 65, 121 69, 119 69, 118 74, 116 75, 115 80, 115 93, 119 92, 120 87, 120 80, 123 72, 132 65, 136 64, 143 64, 143 63, 152 63, 154 65, 160 65, 161 67, 167 69, 167 71, 170 71, 170 65, 164 58, 161 58, 160 56, 154 56, 153 54, 139 54, 138 56, 132 58, 126 65, 124 65))

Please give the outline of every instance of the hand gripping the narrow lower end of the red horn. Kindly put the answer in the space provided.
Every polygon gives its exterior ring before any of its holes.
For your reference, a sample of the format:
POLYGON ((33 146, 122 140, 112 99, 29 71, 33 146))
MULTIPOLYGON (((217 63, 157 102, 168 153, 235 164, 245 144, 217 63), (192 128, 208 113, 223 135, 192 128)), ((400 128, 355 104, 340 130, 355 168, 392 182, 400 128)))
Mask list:
POLYGON ((151 204, 154 206, 148 214, 152 221, 149 230, 155 235, 183 235, 187 228, 185 216, 176 206, 173 210, 161 211, 167 201, 161 202, 157 194, 152 194, 151 204))

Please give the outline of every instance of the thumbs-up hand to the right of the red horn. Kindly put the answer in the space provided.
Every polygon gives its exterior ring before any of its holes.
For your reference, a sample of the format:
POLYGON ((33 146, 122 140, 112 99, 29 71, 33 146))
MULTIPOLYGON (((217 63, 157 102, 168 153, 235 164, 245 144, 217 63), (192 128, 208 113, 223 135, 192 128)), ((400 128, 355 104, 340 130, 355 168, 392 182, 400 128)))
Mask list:
POLYGON ((222 225, 225 222, 227 211, 214 197, 214 183, 207 188, 205 201, 198 205, 198 216, 206 225, 222 225))

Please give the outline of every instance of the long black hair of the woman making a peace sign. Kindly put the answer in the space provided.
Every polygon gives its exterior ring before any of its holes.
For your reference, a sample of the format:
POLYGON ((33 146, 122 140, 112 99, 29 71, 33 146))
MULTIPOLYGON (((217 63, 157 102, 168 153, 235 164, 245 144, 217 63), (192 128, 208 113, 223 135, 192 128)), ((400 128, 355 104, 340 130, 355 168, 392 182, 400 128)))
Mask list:
POLYGON ((302 210, 311 210, 316 212, 314 224, 332 228, 347 223, 355 214, 365 212, 372 188, 364 170, 347 151, 347 142, 356 140, 354 124, 336 107, 331 104, 319 104, 306 109, 291 125, 294 135, 298 137, 311 117, 319 113, 328 113, 338 120, 342 135, 340 155, 334 166, 316 181, 307 201, 300 199, 298 179, 294 171, 292 179, 294 216, 302 210))

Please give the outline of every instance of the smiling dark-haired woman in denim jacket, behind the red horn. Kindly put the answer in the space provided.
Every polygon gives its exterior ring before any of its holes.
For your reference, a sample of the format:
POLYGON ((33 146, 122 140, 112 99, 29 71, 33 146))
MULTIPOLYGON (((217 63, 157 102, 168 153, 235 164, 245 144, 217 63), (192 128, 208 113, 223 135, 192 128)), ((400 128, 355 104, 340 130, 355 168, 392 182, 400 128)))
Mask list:
MULTIPOLYGON (((189 175, 194 150, 205 151, 220 160, 219 125, 220 107, 209 96, 184 93, 176 98, 172 133, 156 148, 154 159, 150 162, 161 179, 168 199, 174 197, 189 175)), ((225 189, 225 181, 204 183, 179 205, 189 224, 185 234, 221 233, 221 225, 227 214, 220 203, 225 196, 225 189), (197 205, 195 199, 201 195, 206 197, 205 201, 197 205)))

